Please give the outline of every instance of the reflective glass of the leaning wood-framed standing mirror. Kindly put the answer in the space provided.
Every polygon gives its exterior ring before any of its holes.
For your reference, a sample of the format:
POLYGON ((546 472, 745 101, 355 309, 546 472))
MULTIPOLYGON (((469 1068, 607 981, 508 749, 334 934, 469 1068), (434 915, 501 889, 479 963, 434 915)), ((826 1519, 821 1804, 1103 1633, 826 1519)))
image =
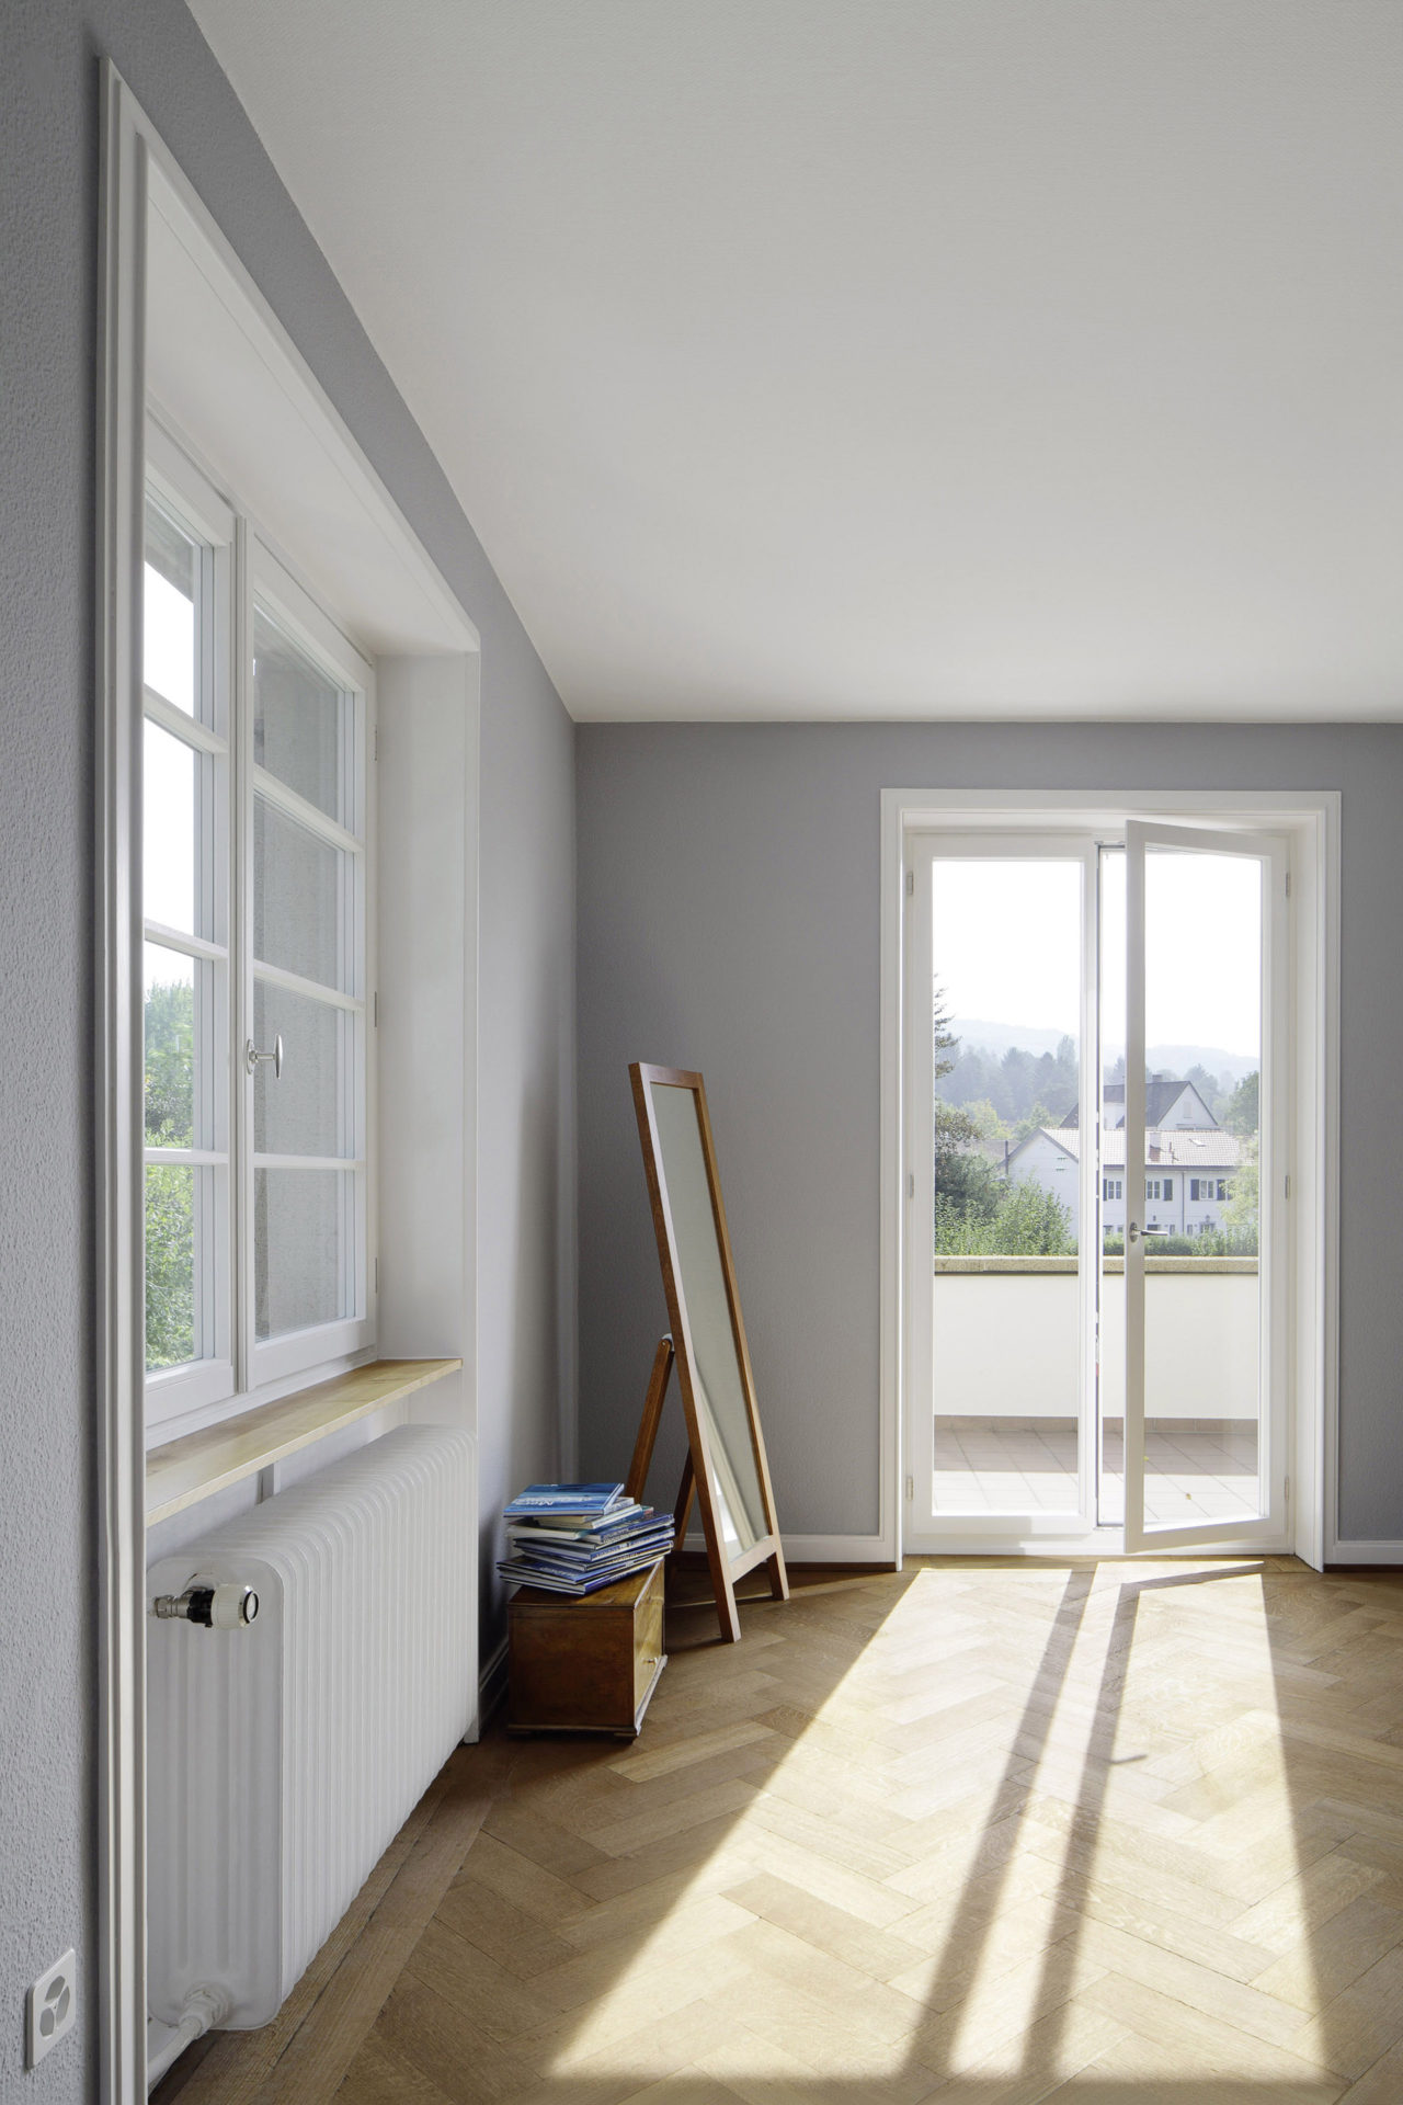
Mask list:
MULTIPOLYGON (((711 1210, 696 1090, 652 1082, 663 1185, 673 1217, 677 1295, 692 1332, 692 1387, 711 1457, 711 1497, 730 1556, 766 1532, 721 1244, 711 1210)), ((682 1351, 682 1339, 677 1339, 682 1351)))

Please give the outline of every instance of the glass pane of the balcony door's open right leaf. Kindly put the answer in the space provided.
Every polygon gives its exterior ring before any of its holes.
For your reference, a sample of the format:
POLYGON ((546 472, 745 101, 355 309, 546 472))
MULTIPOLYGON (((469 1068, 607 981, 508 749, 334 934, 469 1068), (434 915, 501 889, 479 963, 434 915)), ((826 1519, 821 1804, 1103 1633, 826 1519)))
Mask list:
MULTIPOLYGON (((1123 1265, 1127 1547, 1231 1537, 1270 1511, 1260 1219, 1270 869, 1256 842, 1127 827, 1125 1071, 1102 1095, 1106 1147, 1119 1111, 1125 1179, 1104 1227, 1123 1265)), ((1111 1436, 1106 1400, 1106 1461, 1111 1436)))

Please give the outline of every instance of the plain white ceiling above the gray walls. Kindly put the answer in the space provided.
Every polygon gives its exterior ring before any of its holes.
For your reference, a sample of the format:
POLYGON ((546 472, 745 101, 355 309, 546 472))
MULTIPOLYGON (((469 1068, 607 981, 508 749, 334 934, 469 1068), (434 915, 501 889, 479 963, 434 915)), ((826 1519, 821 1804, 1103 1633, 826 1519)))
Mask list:
POLYGON ((1399 0, 191 4, 576 718, 1403 716, 1399 0))

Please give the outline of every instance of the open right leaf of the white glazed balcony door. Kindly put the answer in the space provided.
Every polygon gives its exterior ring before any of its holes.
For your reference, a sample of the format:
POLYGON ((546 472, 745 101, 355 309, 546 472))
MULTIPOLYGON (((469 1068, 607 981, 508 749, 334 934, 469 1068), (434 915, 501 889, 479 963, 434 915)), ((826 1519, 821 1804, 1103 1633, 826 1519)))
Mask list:
MULTIPOLYGON (((1285 842, 1130 821, 1117 861, 1125 884, 1125 1160, 1146 1162, 1138 1210, 1127 1202, 1119 1282, 1125 1547, 1281 1539, 1287 1071, 1273 1017, 1287 979, 1285 842), (1239 1057, 1258 1052, 1258 1065, 1222 1090, 1214 1126, 1165 1130, 1157 1122, 1165 1088, 1146 1082, 1157 1042, 1193 1042, 1201 1019, 1214 1042, 1231 1040, 1239 1057), (1178 1215, 1163 1196, 1159 1206, 1148 1196, 1155 1185, 1163 1194, 1170 1156, 1178 1215), (1174 1236, 1180 1225, 1188 1236, 1174 1236), (1180 1242, 1212 1246, 1212 1255, 1157 1255, 1180 1242)), ((1195 1105, 1176 1109, 1201 1116, 1195 1105)), ((1102 1280, 1102 1299, 1111 1284, 1102 1280)))

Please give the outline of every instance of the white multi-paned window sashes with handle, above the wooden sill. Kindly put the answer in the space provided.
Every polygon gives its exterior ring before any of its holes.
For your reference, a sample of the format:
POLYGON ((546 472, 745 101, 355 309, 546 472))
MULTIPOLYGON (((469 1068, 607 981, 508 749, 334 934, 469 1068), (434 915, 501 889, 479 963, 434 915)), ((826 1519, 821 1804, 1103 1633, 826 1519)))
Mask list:
MULTIPOLYGON (((221 1183, 212 1208, 215 1234, 196 1280, 215 1349, 183 1366, 145 1377, 147 1446, 248 1410, 290 1383, 330 1375, 377 1343, 377 680, 372 659, 322 608, 288 560, 261 533, 233 493, 191 457, 147 404, 147 486, 158 503, 208 549, 200 680, 212 695, 212 724, 145 690, 145 716, 225 770, 223 819, 210 850, 215 928, 223 941, 145 924, 147 941, 210 960, 221 996, 215 1004, 215 1057, 223 1078, 219 1128, 223 1149, 145 1149, 145 1162, 210 1166, 221 1183), (276 775, 255 764, 252 623, 265 608, 292 644, 351 695, 351 825, 318 810, 276 775), (255 796, 347 855, 351 901, 345 926, 343 989, 332 991, 252 956, 255 796), (255 979, 345 1010, 353 1019, 353 1141, 349 1156, 255 1154, 255 1078, 244 1048, 255 1038, 255 979), (255 1177, 261 1168, 334 1168, 349 1172, 353 1219, 345 1238, 343 1305, 347 1316, 307 1328, 257 1337, 255 1177)), ((219 1082, 215 1084, 219 1086, 219 1082)))

